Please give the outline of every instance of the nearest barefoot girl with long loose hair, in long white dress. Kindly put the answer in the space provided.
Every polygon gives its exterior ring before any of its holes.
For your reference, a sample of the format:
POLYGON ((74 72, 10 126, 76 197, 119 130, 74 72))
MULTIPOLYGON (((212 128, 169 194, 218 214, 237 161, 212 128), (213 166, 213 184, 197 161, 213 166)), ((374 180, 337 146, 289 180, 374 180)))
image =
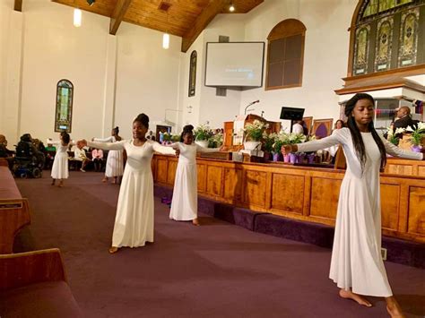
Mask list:
POLYGON ((378 136, 372 122, 374 105, 370 95, 356 94, 345 106, 348 128, 336 130, 318 141, 283 146, 282 152, 343 145, 347 170, 340 190, 329 277, 341 288, 341 297, 366 306, 371 304, 360 295, 385 297, 388 313, 403 317, 381 257, 379 170, 386 164, 386 153, 418 160, 423 155, 401 150, 378 136))

